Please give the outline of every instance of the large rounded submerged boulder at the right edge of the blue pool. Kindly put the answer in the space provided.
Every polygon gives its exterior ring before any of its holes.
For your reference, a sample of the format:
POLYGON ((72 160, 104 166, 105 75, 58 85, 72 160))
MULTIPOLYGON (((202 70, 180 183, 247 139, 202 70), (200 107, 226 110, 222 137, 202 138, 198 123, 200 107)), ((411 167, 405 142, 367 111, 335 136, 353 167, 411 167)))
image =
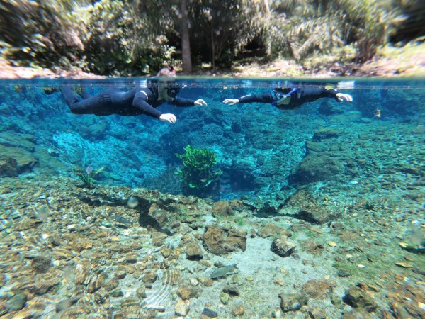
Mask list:
POLYGON ((344 173, 344 165, 327 155, 307 155, 288 177, 290 184, 308 184, 334 179, 344 173))

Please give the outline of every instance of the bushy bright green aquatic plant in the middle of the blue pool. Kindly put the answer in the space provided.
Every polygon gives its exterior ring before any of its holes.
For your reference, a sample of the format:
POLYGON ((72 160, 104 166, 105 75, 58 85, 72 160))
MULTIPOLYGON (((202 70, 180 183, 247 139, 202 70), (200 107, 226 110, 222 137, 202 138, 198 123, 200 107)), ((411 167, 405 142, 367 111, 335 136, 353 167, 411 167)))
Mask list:
POLYGON ((183 154, 175 154, 183 162, 183 168, 176 172, 181 179, 183 194, 201 198, 217 196, 222 172, 213 169, 217 164, 215 152, 191 145, 187 145, 184 150, 183 154))

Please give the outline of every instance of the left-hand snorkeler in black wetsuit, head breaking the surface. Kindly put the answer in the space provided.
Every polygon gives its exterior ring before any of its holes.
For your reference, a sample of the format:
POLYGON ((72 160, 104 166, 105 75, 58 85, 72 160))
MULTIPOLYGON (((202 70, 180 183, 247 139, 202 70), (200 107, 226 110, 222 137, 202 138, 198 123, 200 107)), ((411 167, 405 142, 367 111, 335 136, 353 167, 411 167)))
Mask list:
MULTIPOLYGON (((174 69, 164 68, 158 72, 157 77, 175 77, 174 69), (166 71, 169 70, 169 73, 166 71)), ((94 114, 96 116, 109 116, 111 114, 118 114, 121 116, 137 116, 145 114, 152 118, 158 118, 162 121, 169 121, 169 123, 176 123, 177 119, 174 114, 162 113, 157 110, 157 107, 163 103, 170 103, 174 106, 206 106, 207 103, 203 99, 196 101, 191 99, 183 99, 177 97, 179 93, 179 85, 174 81, 157 80, 158 84, 152 87, 139 87, 130 91, 120 91, 120 89, 106 89, 106 91, 90 96, 86 90, 83 89, 79 99, 74 95, 72 89, 67 85, 62 85, 60 91, 62 92, 69 109, 74 114, 94 114), (159 82, 163 82, 159 85, 159 82)))

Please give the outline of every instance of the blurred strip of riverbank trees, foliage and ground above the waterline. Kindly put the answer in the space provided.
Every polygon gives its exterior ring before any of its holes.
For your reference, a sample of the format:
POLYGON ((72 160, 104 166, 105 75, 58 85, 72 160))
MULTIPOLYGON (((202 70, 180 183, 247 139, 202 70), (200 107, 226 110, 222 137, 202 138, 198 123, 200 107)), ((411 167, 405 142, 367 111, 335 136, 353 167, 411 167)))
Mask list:
POLYGON ((52 72, 385 75, 396 60, 389 73, 418 75, 424 59, 419 0, 2 0, 0 13, 1 59, 52 72))

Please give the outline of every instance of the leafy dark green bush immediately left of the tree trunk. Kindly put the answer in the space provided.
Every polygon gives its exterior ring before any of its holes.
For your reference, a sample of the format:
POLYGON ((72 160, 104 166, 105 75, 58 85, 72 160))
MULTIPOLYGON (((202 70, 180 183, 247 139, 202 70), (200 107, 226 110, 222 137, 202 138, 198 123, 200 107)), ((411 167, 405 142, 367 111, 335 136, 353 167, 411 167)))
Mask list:
POLYGON ((86 53, 89 69, 100 74, 156 72, 174 47, 164 35, 172 26, 164 1, 101 0, 91 8, 86 53))

